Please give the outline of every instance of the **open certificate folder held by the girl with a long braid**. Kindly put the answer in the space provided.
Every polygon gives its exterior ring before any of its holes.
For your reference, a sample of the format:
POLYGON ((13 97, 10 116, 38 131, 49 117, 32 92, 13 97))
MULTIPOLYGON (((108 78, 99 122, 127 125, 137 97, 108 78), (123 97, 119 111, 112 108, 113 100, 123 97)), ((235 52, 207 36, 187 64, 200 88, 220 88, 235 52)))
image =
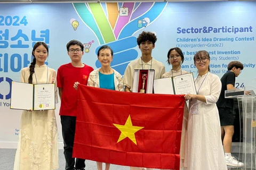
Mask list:
POLYGON ((12 82, 11 109, 55 109, 55 84, 28 84, 12 82))

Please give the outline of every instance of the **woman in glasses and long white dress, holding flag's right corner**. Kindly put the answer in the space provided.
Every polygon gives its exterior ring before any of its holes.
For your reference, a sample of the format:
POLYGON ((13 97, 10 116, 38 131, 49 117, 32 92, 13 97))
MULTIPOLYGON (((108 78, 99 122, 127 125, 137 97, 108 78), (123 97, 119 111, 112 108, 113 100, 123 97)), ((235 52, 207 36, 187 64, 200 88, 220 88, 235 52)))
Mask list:
POLYGON ((196 95, 185 96, 186 100, 190 100, 190 108, 184 169, 227 170, 216 105, 221 81, 217 75, 210 73, 210 56, 205 50, 195 54, 194 63, 198 70, 196 95))

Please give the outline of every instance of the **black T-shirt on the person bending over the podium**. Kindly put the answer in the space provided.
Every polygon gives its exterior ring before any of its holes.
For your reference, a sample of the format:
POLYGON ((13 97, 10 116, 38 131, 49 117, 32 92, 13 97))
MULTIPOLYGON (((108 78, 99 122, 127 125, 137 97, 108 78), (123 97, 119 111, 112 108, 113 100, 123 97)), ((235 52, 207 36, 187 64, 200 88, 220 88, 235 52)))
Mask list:
POLYGON ((228 71, 225 73, 222 78, 220 79, 221 81, 221 92, 220 92, 220 97, 219 100, 217 101, 217 106, 218 107, 230 107, 233 108, 234 101, 233 99, 226 99, 225 98, 225 90, 227 90, 227 85, 228 84, 233 84, 235 86, 235 81, 236 81, 236 76, 235 73, 228 71))

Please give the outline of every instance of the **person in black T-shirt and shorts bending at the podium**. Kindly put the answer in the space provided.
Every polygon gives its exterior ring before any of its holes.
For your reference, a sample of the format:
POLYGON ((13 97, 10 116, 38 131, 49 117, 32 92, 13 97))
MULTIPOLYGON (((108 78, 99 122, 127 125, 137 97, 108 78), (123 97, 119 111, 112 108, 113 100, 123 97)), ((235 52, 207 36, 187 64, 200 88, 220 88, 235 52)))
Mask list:
POLYGON ((225 90, 235 89, 236 77, 241 73, 244 66, 241 62, 233 61, 228 64, 228 71, 221 80, 222 88, 217 107, 220 115, 221 137, 225 151, 226 163, 228 166, 243 167, 244 164, 238 162, 236 158, 231 156, 231 144, 234 134, 234 117, 233 117, 233 99, 225 98, 225 90))

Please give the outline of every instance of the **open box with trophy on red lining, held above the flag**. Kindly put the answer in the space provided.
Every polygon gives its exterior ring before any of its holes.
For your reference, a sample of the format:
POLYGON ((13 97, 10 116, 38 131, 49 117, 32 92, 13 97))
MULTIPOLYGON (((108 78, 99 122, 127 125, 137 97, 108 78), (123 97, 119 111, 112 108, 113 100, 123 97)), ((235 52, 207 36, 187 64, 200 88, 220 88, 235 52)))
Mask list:
POLYGON ((153 93, 155 70, 134 70, 133 92, 153 93))

